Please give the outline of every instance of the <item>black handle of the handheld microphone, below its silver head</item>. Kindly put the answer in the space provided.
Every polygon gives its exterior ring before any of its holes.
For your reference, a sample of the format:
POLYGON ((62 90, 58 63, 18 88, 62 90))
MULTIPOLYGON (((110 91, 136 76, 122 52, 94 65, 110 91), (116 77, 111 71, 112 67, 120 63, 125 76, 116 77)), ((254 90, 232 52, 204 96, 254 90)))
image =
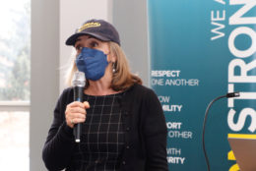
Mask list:
MULTIPOLYGON (((83 102, 84 86, 74 86, 74 101, 83 102)), ((80 142, 81 123, 75 124, 73 134, 76 142, 80 142)))

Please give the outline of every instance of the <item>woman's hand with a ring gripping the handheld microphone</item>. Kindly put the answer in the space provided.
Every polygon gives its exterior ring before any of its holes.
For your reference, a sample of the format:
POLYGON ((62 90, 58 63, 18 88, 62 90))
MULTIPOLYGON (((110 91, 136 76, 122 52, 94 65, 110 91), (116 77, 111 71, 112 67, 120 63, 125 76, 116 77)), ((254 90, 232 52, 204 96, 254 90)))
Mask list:
POLYGON ((74 128, 75 124, 83 123, 87 118, 86 109, 90 108, 88 101, 74 101, 67 105, 65 111, 66 123, 70 128, 74 128))

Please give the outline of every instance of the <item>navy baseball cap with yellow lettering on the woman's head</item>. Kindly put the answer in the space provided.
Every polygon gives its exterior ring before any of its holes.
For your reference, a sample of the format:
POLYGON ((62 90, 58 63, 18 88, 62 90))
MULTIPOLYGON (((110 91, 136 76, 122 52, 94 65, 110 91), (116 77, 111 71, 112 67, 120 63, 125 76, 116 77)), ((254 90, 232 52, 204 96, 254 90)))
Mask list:
POLYGON ((113 41, 120 45, 117 30, 103 20, 90 20, 77 28, 75 33, 66 40, 66 45, 75 45, 77 38, 81 35, 92 35, 102 41, 113 41))

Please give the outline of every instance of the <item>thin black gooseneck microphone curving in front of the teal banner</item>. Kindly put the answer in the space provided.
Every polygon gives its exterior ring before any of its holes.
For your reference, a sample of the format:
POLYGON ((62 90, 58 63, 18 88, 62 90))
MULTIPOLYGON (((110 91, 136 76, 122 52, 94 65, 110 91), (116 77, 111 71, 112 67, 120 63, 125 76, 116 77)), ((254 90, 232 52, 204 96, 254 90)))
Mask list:
POLYGON ((207 106, 207 109, 205 112, 205 117, 204 117, 204 123, 203 123, 202 143, 203 143, 203 151, 204 151, 208 171, 210 171, 210 162, 209 162, 209 159, 207 156, 206 146, 205 146, 205 127, 206 127, 206 121, 207 121, 209 110, 212 107, 212 105, 214 104, 214 102, 216 102, 217 100, 219 100, 221 98, 224 98, 224 97, 232 98, 232 97, 238 97, 238 96, 240 96, 239 92, 229 92, 229 93, 226 93, 225 95, 222 95, 222 96, 219 96, 219 97, 213 99, 207 106))

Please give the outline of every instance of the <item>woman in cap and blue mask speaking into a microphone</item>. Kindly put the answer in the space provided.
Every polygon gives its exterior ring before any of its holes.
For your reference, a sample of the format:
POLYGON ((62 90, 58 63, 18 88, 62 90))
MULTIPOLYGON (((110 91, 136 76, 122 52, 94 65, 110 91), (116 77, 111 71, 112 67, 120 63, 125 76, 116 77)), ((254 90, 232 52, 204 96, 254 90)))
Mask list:
POLYGON ((166 126, 157 95, 129 71, 118 32, 91 20, 71 35, 76 71, 84 72, 85 102, 73 101, 73 88, 58 99, 42 158, 51 170, 166 171, 166 126), (81 142, 73 128, 82 124, 81 142))

